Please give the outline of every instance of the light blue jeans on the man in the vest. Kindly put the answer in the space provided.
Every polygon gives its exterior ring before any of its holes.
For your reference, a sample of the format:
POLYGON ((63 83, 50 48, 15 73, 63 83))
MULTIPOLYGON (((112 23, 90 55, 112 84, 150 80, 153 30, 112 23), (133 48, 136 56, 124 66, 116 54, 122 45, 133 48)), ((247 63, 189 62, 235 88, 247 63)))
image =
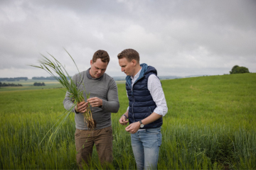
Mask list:
POLYGON ((131 139, 137 169, 157 169, 161 127, 139 130, 131 139))

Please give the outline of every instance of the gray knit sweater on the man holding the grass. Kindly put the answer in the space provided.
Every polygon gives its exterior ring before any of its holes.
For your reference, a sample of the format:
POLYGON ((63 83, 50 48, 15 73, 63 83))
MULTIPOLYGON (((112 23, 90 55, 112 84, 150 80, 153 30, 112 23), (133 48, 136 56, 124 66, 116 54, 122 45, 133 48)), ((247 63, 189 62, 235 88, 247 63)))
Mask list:
MULTIPOLYGON (((75 81, 76 86, 80 91, 83 91, 83 95, 86 99, 86 94, 90 94, 90 98, 98 97, 102 99, 102 107, 91 107, 92 118, 96 121, 97 126, 95 130, 107 128, 111 125, 111 113, 117 113, 119 110, 119 101, 117 94, 117 84, 114 79, 103 74, 102 77, 94 79, 90 76, 90 69, 81 72, 80 74, 75 74, 72 77, 75 81), (81 79, 82 78, 82 79, 81 79), (85 87, 82 84, 82 81, 85 87), (85 92, 86 91, 86 92, 85 92)), ((63 105, 65 109, 70 109, 73 106, 73 102, 68 97, 69 92, 67 91, 63 105)), ((75 113, 75 108, 73 109, 75 113)), ((75 113, 75 128, 80 130, 87 130, 87 125, 84 122, 84 116, 81 113, 75 113)))

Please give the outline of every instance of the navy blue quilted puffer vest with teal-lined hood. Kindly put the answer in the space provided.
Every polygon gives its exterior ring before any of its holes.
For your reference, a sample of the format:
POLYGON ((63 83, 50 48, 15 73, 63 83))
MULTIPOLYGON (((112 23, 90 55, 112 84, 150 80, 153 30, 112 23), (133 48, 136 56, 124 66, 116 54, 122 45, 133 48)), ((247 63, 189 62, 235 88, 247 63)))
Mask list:
MULTIPOLYGON (((139 74, 139 78, 134 82, 132 87, 132 79, 127 76, 126 89, 129 98, 129 123, 138 122, 143 120, 153 113, 156 108, 156 103, 149 92, 147 82, 151 74, 157 72, 154 67, 148 66, 147 64, 141 64, 142 71, 139 74)), ((159 128, 163 124, 163 119, 159 118, 153 123, 144 125, 144 128, 159 128)))

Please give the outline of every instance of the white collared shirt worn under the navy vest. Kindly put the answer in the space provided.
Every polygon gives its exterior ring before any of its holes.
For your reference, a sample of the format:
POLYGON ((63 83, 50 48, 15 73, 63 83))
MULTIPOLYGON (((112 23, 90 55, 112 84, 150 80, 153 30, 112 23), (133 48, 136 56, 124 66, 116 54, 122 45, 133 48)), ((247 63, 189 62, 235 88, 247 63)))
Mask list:
MULTIPOLYGON (((134 82, 139 78, 139 74, 142 72, 142 69, 139 70, 139 72, 132 77, 132 86, 134 85, 134 82)), ((166 115, 168 112, 167 104, 166 104, 166 98, 164 96, 164 91, 161 86, 161 82, 158 77, 156 77, 155 74, 151 74, 148 79, 148 89, 149 92, 153 98, 153 101, 156 103, 156 108, 154 109, 154 113, 157 113, 159 115, 166 115)), ((128 94, 127 94, 128 96, 128 94)), ((129 109, 129 106, 127 110, 129 109)))

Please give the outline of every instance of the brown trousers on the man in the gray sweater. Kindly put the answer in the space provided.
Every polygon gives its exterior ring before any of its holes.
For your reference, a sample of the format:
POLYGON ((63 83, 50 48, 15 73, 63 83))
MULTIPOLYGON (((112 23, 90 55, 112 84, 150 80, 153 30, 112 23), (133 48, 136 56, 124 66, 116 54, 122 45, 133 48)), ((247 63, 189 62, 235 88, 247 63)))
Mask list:
POLYGON ((112 163, 112 126, 100 130, 75 130, 76 159, 78 166, 88 163, 95 145, 101 164, 112 163))

